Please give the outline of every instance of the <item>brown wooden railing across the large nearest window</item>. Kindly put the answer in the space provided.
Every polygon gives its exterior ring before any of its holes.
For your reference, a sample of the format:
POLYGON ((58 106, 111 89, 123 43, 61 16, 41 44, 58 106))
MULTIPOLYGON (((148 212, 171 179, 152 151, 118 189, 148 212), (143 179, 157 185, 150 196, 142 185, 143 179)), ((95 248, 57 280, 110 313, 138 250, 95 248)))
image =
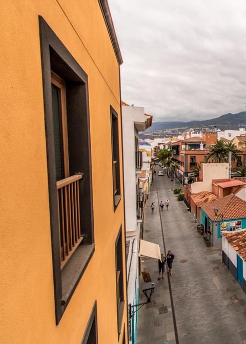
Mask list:
POLYGON ((62 269, 83 240, 80 233, 79 179, 81 174, 56 182, 62 269))

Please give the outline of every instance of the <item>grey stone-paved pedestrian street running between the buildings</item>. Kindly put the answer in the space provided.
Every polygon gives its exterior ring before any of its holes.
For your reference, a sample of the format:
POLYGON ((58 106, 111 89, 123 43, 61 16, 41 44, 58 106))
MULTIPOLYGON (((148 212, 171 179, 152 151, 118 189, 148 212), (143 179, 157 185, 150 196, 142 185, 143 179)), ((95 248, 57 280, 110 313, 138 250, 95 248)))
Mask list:
MULTIPOLYGON (((165 254, 172 250, 173 276, 165 271, 158 281, 157 261, 142 257, 141 270, 150 273, 155 291, 152 304, 138 312, 137 343, 245 344, 246 294, 221 262, 221 249, 205 245, 170 178, 157 176, 159 169, 146 204, 144 239, 158 243, 165 254), (159 202, 167 198, 169 210, 160 211, 159 202)), ((140 297, 145 300, 142 292, 140 297)))

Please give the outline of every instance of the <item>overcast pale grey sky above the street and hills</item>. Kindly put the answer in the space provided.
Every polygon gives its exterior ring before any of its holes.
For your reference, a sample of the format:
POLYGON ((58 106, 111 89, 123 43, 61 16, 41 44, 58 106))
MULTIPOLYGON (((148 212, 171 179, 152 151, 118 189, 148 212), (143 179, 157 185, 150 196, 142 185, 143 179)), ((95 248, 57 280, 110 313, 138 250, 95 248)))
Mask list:
POLYGON ((154 121, 246 111, 246 0, 108 0, 122 100, 154 121))

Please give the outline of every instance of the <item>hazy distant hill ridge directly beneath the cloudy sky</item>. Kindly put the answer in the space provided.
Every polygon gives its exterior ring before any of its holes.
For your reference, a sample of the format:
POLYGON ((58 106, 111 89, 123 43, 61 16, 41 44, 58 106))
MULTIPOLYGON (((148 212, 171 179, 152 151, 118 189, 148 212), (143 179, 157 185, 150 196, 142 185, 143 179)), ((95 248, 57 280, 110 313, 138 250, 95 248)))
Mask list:
MULTIPOLYGON (((246 126, 246 111, 239 112, 238 114, 226 114, 217 118, 207 119, 203 121, 190 121, 190 122, 153 122, 152 126, 147 129, 145 133, 165 131, 170 129, 190 129, 194 130, 202 128, 210 128, 217 126, 217 129, 226 130, 238 130, 238 128, 244 128, 246 126)), ((212 128, 211 128, 212 129, 212 128)))

